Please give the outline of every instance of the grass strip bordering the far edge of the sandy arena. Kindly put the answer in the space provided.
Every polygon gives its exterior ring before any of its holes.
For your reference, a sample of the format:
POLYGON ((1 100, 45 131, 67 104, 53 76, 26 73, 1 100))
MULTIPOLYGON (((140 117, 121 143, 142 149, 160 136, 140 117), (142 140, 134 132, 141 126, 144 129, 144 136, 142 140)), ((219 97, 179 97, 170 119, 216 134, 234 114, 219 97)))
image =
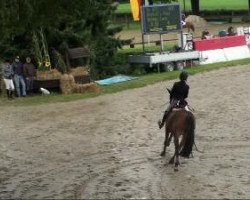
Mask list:
MULTIPOLYGON (((222 62, 215 64, 208 64, 202 66, 195 66, 189 69, 186 69, 190 75, 197 73, 203 73, 211 70, 217 70, 225 67, 232 67, 235 65, 244 65, 249 64, 250 59, 222 62)), ((70 102, 82 99, 88 99, 97 97, 105 94, 112 94, 116 92, 121 92, 128 89, 145 87, 160 81, 172 80, 178 77, 179 71, 165 72, 165 73, 152 73, 144 76, 140 76, 136 80, 118 83, 110 86, 101 86, 101 92, 99 94, 95 93, 86 93, 86 94, 72 94, 72 95, 60 95, 57 93, 52 93, 50 96, 41 96, 36 95, 33 97, 26 97, 20 99, 14 99, 13 101, 8 101, 6 97, 0 97, 0 106, 32 106, 32 105, 41 105, 48 103, 59 103, 59 102, 70 102)))

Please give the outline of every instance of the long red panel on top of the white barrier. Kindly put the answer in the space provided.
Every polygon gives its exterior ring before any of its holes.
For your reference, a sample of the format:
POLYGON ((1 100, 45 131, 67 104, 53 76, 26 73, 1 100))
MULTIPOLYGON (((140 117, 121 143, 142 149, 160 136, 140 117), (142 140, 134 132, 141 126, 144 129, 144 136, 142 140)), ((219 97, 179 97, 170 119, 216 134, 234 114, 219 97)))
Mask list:
POLYGON ((194 49, 197 51, 207 51, 214 49, 224 49, 229 47, 243 46, 246 44, 244 35, 239 36, 227 36, 221 38, 194 40, 194 49))

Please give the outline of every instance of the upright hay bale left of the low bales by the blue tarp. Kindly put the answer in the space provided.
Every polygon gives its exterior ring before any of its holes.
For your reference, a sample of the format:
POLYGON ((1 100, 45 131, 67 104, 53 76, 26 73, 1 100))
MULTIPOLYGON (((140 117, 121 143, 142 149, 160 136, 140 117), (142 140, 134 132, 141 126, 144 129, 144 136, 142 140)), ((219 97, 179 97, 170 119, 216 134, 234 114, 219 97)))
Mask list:
POLYGON ((75 79, 70 74, 64 74, 60 78, 60 89, 62 94, 72 94, 75 91, 75 79))

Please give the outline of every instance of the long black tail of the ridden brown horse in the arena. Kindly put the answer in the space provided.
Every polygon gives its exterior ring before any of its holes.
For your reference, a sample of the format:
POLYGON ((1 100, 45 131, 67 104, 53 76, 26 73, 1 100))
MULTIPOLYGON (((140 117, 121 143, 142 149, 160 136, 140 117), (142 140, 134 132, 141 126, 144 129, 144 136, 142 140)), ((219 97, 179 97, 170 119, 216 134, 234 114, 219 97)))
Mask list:
POLYGON ((194 145, 194 130, 195 130, 195 118, 191 112, 188 112, 186 118, 186 141, 182 148, 180 155, 182 157, 189 158, 193 150, 194 145))

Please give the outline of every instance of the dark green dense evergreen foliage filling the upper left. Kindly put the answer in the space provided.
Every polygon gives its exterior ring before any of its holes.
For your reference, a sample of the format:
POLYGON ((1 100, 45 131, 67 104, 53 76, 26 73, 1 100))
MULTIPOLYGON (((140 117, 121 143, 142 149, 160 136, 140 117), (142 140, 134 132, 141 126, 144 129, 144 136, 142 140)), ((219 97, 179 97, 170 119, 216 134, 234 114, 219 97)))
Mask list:
POLYGON ((33 33, 44 31, 48 48, 88 46, 95 75, 113 62, 122 41, 111 25, 112 0, 0 0, 0 54, 30 54, 33 33))

